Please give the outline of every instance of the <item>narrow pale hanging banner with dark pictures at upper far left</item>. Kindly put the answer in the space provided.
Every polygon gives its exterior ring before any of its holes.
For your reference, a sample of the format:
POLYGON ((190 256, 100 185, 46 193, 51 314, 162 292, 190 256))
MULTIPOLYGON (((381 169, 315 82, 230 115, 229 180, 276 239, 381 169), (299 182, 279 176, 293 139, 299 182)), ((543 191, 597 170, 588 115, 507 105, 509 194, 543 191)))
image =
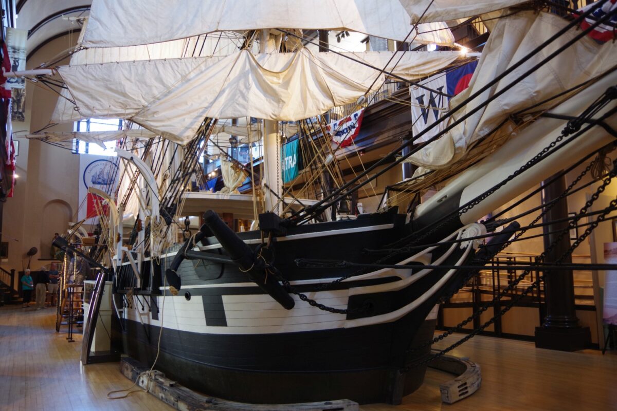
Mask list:
MULTIPOLYGON (((20 71, 26 69, 26 42, 28 30, 18 28, 6 28, 6 44, 9 52, 10 70, 20 71)), ((11 117, 15 121, 25 121, 26 112, 26 80, 23 77, 10 77, 6 84, 12 88, 11 117)))

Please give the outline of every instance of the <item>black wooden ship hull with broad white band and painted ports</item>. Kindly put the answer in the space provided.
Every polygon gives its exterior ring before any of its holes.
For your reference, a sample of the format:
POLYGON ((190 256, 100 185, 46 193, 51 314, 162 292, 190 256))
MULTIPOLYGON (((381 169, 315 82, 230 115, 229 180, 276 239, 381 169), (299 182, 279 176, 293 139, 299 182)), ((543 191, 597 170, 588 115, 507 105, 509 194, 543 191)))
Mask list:
MULTIPOLYGON (((152 365, 160 325, 164 327, 156 368, 182 385, 230 401, 283 404, 350 399, 361 404, 399 404, 421 386, 426 366, 416 364, 429 355, 429 347, 410 351, 433 336, 435 317, 427 317, 439 298, 460 287, 460 278, 448 269, 423 270, 408 266, 404 272, 372 267, 366 277, 328 285, 320 281, 357 273, 351 269, 301 269, 295 258, 349 258, 374 262, 364 248, 378 248, 405 235, 403 219, 381 214, 365 221, 326 223, 299 227, 275 244, 274 261, 284 277, 296 281, 297 291, 326 305, 339 304, 349 312, 333 314, 310 307, 296 296, 296 307, 285 310, 233 264, 184 260, 178 267, 182 288, 177 296, 164 290, 133 290, 130 267, 123 266, 116 293, 123 314, 123 349, 131 357, 152 365), (340 227, 336 234, 330 229, 340 227), (318 235, 318 237, 315 236, 318 235), (310 235, 310 237, 309 237, 310 235), (140 295, 141 294, 141 295, 140 295), (145 294, 145 295, 144 295, 145 294), (170 317, 160 314, 162 298, 170 317), (332 301, 328 303, 329 301, 332 301), (236 305, 237 304, 237 305, 236 305), (168 308, 170 307, 170 308, 168 308)), ((242 240, 260 241, 244 233, 242 240)), ((225 256, 215 239, 202 241, 205 250, 225 256)), ((453 265, 473 256, 470 248, 444 245, 431 251, 432 261, 453 265)), ((393 262, 403 261, 397 256, 393 262)), ((162 266, 173 259, 168 256, 162 266)), ((420 263, 416 263, 420 264, 420 263)), ((141 272, 152 282, 160 266, 144 262, 141 272), (152 272, 151 272, 152 271, 152 272)), ((356 274, 357 275, 357 274, 356 274)))

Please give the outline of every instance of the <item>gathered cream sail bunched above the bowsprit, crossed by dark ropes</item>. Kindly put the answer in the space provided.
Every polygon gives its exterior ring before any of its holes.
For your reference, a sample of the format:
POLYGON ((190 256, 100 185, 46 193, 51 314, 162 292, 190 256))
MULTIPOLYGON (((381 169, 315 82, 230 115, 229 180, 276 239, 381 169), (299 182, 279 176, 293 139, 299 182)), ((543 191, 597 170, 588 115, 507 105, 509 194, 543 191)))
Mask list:
MULTIPOLYGON (((555 35, 567 23, 556 15, 534 11, 521 12, 501 18, 495 26, 495 30, 491 33, 486 46, 484 46, 482 57, 470 81, 469 88, 450 100, 450 107, 455 107, 467 97, 478 92, 491 79, 525 58, 533 49, 555 35)), ((567 31, 541 52, 529 58, 523 65, 505 76, 499 83, 482 92, 479 97, 459 110, 454 118, 471 112, 482 102, 494 96, 500 89, 513 83, 518 76, 523 75, 559 47, 571 41, 578 33, 580 32, 567 31)), ((602 73, 606 73, 615 66, 615 55, 617 55, 617 44, 613 42, 602 45, 589 37, 580 39, 557 57, 542 65, 534 73, 516 83, 515 86, 490 102, 486 107, 471 115, 439 140, 429 144, 421 152, 415 153, 410 158, 411 162, 428 169, 449 168, 455 161, 462 158, 475 142, 493 132, 499 133, 500 124, 507 120, 511 114, 524 110, 531 105, 536 105, 534 112, 542 112, 557 105, 561 100, 571 97, 572 94, 569 93, 560 96, 559 99, 547 100, 602 73), (547 101, 544 102, 544 100, 547 101), (540 104, 540 102, 543 103, 540 104)), ((511 124, 505 124, 504 127, 510 131, 511 124)))

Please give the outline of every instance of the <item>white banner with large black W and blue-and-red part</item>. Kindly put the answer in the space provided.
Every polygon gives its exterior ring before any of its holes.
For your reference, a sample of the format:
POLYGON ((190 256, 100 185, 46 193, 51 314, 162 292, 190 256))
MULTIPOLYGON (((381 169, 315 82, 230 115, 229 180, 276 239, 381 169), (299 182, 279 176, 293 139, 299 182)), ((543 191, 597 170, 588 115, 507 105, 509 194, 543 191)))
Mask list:
MULTIPOLYGON (((447 111, 450 99, 447 96, 436 93, 439 91, 450 96, 469 87, 474 70, 478 67, 478 61, 467 63, 455 70, 433 76, 422 83, 423 86, 431 90, 422 89, 418 86, 409 87, 409 94, 412 99, 412 121, 413 135, 416 136, 424 129, 439 120, 447 111)), ((430 131, 415 140, 416 144, 427 141, 445 129, 445 121, 433 127, 430 131)))

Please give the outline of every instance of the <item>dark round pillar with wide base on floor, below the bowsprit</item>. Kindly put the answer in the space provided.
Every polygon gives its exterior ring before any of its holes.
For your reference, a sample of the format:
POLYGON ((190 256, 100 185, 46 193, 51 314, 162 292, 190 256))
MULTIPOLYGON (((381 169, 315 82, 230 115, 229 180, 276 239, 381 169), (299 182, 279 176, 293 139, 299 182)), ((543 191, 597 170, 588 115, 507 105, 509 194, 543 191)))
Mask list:
MULTIPOLYGON (((553 176, 554 177, 554 176, 553 176)), ((553 177, 550 177, 551 179, 553 177)), ((549 179, 550 180, 550 179, 549 179)), ((565 176, 558 177, 555 182, 544 185, 544 201, 549 203, 559 197, 566 189, 565 176)), ((568 218, 568 201, 566 198, 558 201, 551 210, 545 214, 544 222, 568 218)), ((544 249, 557 240, 559 231, 566 229, 568 222, 558 222, 544 226, 544 249)), ((561 237, 552 250, 548 251, 544 262, 557 262, 570 247, 569 234, 561 237)), ((570 256, 560 262, 569 264, 570 256)), ((571 270, 552 270, 545 272, 544 295, 546 304, 546 317, 540 327, 536 327, 536 347, 558 349, 561 351, 576 351, 585 348, 591 340, 589 327, 581 327, 576 317, 574 307, 574 280, 571 270)))

